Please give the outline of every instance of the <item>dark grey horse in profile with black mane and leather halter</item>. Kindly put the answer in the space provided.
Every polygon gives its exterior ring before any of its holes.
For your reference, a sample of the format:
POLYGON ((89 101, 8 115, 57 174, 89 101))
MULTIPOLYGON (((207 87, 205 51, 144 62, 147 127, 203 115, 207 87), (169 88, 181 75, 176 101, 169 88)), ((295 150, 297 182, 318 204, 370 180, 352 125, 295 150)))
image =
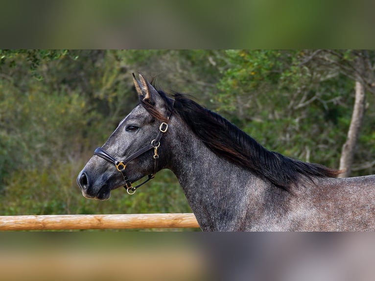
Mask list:
POLYGON ((133 194, 170 169, 202 231, 375 231, 375 175, 338 178, 267 150, 186 94, 157 90, 141 73, 133 81, 140 103, 77 177, 86 198, 122 186, 133 194))

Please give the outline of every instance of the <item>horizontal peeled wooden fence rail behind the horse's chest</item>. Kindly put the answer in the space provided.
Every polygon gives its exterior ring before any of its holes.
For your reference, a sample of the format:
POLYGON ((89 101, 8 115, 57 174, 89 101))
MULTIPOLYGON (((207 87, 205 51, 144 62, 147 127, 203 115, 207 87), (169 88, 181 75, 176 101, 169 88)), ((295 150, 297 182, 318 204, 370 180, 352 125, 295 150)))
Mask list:
POLYGON ((0 231, 196 227, 193 213, 0 216, 0 231))

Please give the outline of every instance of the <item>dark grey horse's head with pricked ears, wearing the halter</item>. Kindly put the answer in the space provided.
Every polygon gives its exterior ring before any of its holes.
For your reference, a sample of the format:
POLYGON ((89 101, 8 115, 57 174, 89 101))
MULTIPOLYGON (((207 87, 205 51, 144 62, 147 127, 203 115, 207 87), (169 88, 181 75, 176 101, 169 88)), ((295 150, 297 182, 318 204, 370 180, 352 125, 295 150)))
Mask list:
POLYGON ((139 75, 133 74, 140 104, 122 119, 109 139, 98 147, 77 177, 83 196, 107 200, 111 190, 124 186, 129 194, 132 183, 148 175, 146 182, 165 166, 168 119, 172 100, 139 75), (164 152, 161 153, 161 151, 164 152))

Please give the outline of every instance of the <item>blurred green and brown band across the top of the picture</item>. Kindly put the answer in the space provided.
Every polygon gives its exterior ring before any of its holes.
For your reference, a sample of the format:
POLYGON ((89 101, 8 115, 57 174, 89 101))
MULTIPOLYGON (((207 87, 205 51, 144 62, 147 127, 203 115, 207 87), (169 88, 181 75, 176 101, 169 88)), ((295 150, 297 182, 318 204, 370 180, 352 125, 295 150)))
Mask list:
POLYGON ((367 0, 6 1, 0 32, 5 47, 366 48, 375 42, 373 7, 367 0))

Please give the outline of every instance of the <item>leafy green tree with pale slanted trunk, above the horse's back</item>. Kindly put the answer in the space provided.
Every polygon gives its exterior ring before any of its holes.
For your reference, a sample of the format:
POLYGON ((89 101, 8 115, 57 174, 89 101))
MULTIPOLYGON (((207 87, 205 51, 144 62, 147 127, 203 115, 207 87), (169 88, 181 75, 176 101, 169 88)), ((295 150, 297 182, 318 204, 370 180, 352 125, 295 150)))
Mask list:
MULTIPOLYGON (((245 117, 239 124, 271 149, 329 166, 336 166, 341 156, 348 159, 343 163, 350 171, 355 143, 360 140, 365 92, 375 92, 374 52, 231 50, 227 55, 230 64, 220 82, 223 94, 219 98, 228 104, 223 110, 245 117), (355 81, 356 102, 352 96, 355 81), (349 114, 353 104, 357 106, 349 114), (343 132, 346 126, 351 127, 349 137, 343 132), (289 142, 293 143, 291 151, 285 150, 289 142)), ((362 145, 361 151, 369 152, 369 146, 362 145)), ((371 168, 374 162, 368 164, 365 167, 371 168)))

